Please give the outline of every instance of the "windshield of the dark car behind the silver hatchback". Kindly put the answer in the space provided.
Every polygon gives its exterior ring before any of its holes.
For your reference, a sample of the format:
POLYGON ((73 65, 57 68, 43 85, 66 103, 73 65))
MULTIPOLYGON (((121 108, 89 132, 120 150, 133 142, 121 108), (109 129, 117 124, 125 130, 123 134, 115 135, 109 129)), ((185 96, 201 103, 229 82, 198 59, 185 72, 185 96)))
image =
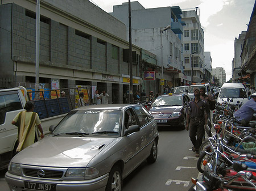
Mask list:
POLYGON ((159 96, 152 104, 153 107, 179 106, 182 105, 181 96, 159 96))

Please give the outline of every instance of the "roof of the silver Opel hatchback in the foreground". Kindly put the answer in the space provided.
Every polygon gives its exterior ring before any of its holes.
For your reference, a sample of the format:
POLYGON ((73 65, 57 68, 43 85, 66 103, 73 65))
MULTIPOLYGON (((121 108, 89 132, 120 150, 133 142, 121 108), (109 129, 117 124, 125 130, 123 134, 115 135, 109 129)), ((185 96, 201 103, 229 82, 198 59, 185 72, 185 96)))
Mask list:
POLYGON ((84 107, 76 108, 75 110, 84 109, 113 109, 113 110, 123 110, 129 107, 140 106, 138 104, 106 104, 106 105, 86 105, 84 107))

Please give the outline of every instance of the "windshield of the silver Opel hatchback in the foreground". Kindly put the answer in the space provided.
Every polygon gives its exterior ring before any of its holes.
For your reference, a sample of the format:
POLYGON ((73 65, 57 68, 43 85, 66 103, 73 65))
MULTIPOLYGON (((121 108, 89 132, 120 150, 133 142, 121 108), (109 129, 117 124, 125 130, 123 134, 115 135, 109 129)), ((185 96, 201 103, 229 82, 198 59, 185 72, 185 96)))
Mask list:
POLYGON ((118 110, 73 111, 56 126, 52 134, 119 134, 121 113, 118 110))

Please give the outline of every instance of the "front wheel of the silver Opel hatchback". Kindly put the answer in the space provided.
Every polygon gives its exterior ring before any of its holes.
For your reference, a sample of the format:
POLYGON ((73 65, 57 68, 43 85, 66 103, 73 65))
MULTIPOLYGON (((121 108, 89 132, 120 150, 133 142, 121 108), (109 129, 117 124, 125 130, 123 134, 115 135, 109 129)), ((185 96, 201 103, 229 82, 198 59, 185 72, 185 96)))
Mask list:
POLYGON ((123 177, 121 169, 115 165, 110 173, 109 173, 109 180, 106 185, 106 191, 121 191, 123 184, 123 177))

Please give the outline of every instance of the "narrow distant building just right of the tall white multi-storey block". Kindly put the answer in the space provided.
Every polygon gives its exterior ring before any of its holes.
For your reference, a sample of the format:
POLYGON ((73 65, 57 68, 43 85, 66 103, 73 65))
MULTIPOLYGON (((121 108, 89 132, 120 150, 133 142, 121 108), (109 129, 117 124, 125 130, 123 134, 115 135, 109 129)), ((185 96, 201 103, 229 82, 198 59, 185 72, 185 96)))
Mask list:
POLYGON ((210 56, 210 52, 204 52, 204 82, 212 84, 212 57, 210 56))

